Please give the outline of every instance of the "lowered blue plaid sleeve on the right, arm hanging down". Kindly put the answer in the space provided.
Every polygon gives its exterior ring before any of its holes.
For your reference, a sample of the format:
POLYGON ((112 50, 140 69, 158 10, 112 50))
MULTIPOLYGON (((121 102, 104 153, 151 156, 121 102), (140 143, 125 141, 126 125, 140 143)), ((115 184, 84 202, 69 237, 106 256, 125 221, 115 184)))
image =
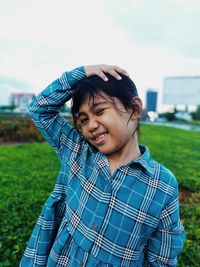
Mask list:
POLYGON ((178 185, 170 203, 163 209, 160 222, 148 242, 148 266, 176 266, 177 255, 185 242, 185 230, 180 222, 178 185))

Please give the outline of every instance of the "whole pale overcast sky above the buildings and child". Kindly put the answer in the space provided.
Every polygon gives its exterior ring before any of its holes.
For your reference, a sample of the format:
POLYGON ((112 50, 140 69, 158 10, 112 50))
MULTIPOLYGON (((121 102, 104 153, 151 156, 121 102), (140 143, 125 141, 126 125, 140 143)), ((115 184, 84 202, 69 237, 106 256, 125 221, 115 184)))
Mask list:
POLYGON ((64 71, 125 68, 145 100, 166 76, 200 75, 199 0, 0 0, 0 104, 64 71))

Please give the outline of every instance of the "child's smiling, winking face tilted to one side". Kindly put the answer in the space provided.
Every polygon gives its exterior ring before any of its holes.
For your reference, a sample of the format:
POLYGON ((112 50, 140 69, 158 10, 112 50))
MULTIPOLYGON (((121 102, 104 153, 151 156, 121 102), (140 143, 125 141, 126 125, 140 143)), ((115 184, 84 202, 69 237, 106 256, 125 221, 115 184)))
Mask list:
POLYGON ((78 113, 79 125, 86 140, 103 154, 126 154, 134 149, 133 137, 137 128, 135 114, 127 111, 117 99, 105 93, 86 97, 78 113))

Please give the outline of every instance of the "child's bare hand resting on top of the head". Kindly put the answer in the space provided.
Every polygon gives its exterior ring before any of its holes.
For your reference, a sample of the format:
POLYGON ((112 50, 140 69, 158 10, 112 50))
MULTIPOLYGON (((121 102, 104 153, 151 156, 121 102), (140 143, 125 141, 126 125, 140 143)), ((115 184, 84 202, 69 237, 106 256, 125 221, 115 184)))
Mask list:
POLYGON ((108 77, 106 76, 106 73, 112 75, 117 80, 122 79, 120 76, 120 73, 125 76, 128 76, 127 71, 114 65, 106 65, 106 64, 90 65, 90 66, 85 66, 84 69, 85 69, 85 74, 87 77, 97 75, 104 81, 108 81, 108 77))

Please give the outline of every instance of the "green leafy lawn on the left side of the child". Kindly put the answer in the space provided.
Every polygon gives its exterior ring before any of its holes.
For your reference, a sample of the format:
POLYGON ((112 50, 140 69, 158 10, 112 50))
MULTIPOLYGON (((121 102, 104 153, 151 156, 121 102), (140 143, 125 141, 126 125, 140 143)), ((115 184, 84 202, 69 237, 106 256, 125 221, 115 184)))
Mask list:
POLYGON ((46 143, 0 147, 0 266, 18 266, 59 161, 46 143))

